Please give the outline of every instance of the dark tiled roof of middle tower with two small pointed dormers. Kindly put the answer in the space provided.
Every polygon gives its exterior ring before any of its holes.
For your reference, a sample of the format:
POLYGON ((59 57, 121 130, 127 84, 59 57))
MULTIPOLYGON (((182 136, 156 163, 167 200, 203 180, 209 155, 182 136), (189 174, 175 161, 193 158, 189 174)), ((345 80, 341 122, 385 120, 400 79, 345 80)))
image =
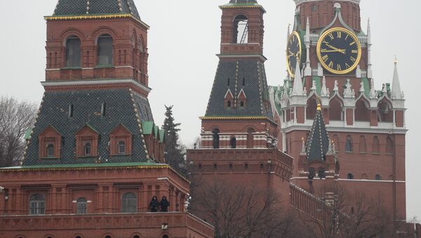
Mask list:
MULTIPOLYGON (((236 103, 239 104, 239 102, 236 103)), ((206 117, 269 117, 272 119, 265 65, 259 60, 221 60, 210 93, 206 117), (238 96, 243 89, 247 98, 245 108, 225 108, 225 94, 228 89, 234 97, 238 96)))

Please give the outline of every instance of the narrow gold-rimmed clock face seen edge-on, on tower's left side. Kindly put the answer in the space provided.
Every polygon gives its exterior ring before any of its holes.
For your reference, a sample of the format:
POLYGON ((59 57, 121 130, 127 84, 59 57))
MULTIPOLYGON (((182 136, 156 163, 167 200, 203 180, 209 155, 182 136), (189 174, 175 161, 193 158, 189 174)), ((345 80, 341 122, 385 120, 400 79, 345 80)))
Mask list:
POLYGON ((286 47, 286 63, 290 77, 295 77, 297 62, 301 62, 301 39, 298 32, 293 32, 288 38, 288 44, 286 47))

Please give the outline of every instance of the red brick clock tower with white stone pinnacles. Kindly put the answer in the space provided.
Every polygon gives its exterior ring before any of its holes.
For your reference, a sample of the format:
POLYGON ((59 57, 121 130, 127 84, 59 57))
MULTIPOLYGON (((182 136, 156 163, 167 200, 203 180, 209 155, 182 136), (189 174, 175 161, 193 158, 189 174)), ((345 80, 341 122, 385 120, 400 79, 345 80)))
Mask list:
MULTIPOLYGON (((283 86, 270 87, 272 110, 281 121, 282 150, 299 158, 320 98, 340 158, 339 181, 373 196, 381 192, 396 220, 405 220, 406 108, 397 62, 392 86, 383 84, 376 91, 370 22, 363 32, 359 3, 295 0, 295 24, 293 32, 288 31, 288 76, 283 86)), ((293 183, 300 179, 298 161, 293 183)))

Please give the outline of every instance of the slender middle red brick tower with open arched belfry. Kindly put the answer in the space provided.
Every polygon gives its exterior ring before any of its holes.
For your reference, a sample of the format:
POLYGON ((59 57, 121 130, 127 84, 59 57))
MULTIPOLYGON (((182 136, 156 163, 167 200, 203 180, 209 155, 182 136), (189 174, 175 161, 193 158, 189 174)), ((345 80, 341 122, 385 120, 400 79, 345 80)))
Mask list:
POLYGON ((204 183, 269 185, 288 201, 293 159, 276 147, 279 126, 262 55, 265 9, 257 1, 234 0, 220 8, 220 62, 201 118, 201 147, 187 152, 192 174, 204 183))

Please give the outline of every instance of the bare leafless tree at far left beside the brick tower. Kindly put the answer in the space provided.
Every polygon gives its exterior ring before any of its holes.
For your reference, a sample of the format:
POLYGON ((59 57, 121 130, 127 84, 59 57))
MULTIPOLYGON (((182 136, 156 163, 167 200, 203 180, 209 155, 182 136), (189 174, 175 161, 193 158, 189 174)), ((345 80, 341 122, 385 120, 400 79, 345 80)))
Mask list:
POLYGON ((25 150, 24 136, 31 128, 36 105, 15 98, 0 98, 0 167, 17 165, 25 150))

